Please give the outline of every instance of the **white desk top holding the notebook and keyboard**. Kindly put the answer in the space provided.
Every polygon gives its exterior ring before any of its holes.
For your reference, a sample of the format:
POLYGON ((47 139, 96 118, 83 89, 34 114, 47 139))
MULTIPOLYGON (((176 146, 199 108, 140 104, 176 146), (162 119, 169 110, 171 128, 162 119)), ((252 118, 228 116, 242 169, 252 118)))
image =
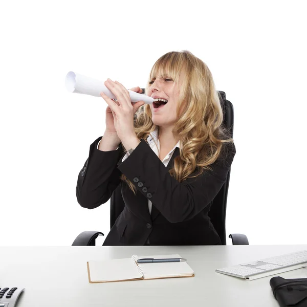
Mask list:
MULTIPOLYGON (((307 245, 0 247, 0 288, 26 288, 18 307, 278 307, 269 284, 273 276, 248 281, 215 269, 300 250, 307 245), (180 254, 195 277, 89 283, 86 261, 133 254, 180 254)), ((306 278, 307 269, 277 275, 306 278)))

